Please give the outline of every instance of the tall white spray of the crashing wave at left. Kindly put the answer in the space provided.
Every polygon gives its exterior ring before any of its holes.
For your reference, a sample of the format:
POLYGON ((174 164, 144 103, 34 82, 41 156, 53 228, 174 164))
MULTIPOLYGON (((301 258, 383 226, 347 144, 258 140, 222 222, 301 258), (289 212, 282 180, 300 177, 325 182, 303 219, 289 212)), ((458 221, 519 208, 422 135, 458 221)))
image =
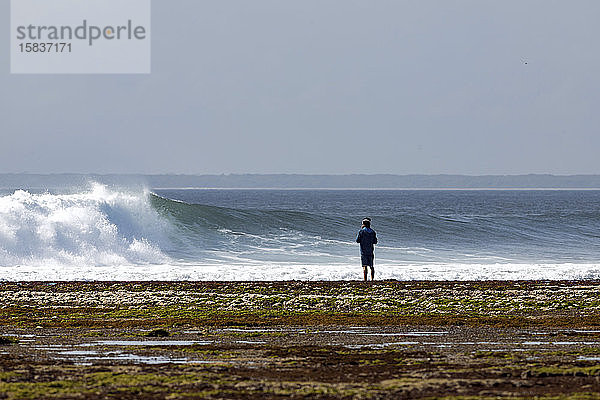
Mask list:
MULTIPOLYGON (((2 279, 17 279, 23 269, 43 278, 67 266, 166 262, 157 244, 166 240, 169 225, 146 197, 97 184, 78 194, 18 190, 0 197, 2 279)), ((63 271, 63 279, 71 278, 63 271)))

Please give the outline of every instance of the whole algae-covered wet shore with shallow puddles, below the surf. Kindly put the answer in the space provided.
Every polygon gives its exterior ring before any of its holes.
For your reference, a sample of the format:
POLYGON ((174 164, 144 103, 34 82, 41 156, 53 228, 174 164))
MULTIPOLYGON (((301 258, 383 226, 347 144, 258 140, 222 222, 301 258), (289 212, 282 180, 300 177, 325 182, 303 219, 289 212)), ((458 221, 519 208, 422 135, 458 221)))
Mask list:
POLYGON ((0 399, 600 398, 599 283, 5 282, 0 399))

